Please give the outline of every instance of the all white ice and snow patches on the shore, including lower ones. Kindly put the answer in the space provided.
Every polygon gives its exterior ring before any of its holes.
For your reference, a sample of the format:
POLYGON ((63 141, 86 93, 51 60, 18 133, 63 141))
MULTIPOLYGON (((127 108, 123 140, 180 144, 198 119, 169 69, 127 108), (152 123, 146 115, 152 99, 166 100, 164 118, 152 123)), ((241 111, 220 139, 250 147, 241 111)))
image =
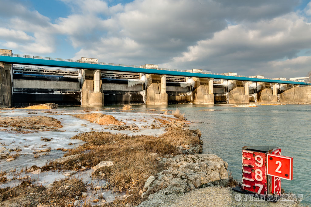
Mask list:
MULTIPOLYGON (((107 126, 91 123, 85 119, 79 119, 71 116, 70 114, 84 114, 83 111, 74 110, 49 110, 57 112, 57 114, 44 113, 46 110, 0 110, 1 117, 29 117, 29 116, 49 116, 53 117, 61 122, 62 128, 58 128, 61 131, 39 131, 28 130, 30 133, 21 133, 19 131, 11 130, 12 127, 0 127, 0 154, 9 153, 10 155, 19 154, 15 160, 7 161, 6 159, 0 160, 0 171, 6 171, 7 181, 0 183, 0 188, 13 187, 19 185, 21 178, 30 178, 35 184, 41 184, 47 186, 53 183, 55 180, 66 178, 62 173, 63 171, 46 171, 40 174, 26 173, 25 169, 30 168, 32 165, 42 167, 49 162, 59 157, 63 157, 64 151, 57 150, 58 148, 70 149, 83 144, 81 140, 70 139, 78 133, 91 132, 91 131, 104 131, 112 133, 124 133, 129 135, 160 135, 164 133, 165 126, 163 126, 155 118, 165 119, 165 117, 173 117, 172 115, 163 114, 145 114, 145 113, 131 113, 131 112, 87 112, 87 113, 103 113, 112 115, 118 120, 122 120, 127 126, 137 126, 137 130, 111 130, 107 126), (31 112, 31 114, 29 114, 31 112), (82 125, 81 125, 82 124, 82 125), (151 125, 159 126, 160 128, 149 128, 151 125), (42 138, 52 139, 49 142, 44 142, 42 138), (10 151, 10 149, 19 148, 21 151, 10 151), (41 151, 41 152, 40 152, 41 151), (22 171, 22 172, 21 172, 22 171)), ((3 158, 3 157, 2 157, 3 158)), ((113 201, 116 196, 122 196, 124 193, 115 195, 111 190, 99 190, 94 193, 92 187, 100 185, 102 186, 104 180, 92 180, 92 169, 80 171, 75 175, 82 178, 86 182, 88 195, 93 195, 93 198, 98 197, 100 194, 109 202, 113 201)), ((89 196, 88 196, 89 197, 89 196)), ((92 198, 92 196, 91 196, 92 198)), ((92 200, 92 199, 91 199, 92 200)))

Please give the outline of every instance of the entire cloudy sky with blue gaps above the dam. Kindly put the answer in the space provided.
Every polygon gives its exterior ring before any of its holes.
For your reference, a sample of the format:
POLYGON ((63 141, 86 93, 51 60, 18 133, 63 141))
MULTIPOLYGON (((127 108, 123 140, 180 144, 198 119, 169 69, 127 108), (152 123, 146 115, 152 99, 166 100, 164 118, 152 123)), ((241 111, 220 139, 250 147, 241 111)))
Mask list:
POLYGON ((311 70, 311 2, 0 0, 0 48, 109 63, 300 77, 311 70))

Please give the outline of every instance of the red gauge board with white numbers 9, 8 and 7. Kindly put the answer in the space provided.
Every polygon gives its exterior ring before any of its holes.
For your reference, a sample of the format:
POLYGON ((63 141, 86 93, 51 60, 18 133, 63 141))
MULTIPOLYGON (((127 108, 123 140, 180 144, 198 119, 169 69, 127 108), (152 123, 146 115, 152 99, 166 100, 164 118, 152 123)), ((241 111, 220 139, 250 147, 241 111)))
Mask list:
POLYGON ((243 150, 243 190, 267 193, 266 153, 243 150))

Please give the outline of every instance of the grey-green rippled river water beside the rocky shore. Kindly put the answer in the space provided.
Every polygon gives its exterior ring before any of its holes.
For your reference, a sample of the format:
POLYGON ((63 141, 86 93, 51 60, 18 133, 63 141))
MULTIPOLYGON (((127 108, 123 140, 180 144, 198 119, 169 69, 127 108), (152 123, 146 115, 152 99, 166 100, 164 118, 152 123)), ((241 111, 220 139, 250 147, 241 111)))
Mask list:
MULTIPOLYGON (((120 108, 104 108, 112 107, 120 108)), ((132 111, 163 113, 147 110, 176 107, 188 120, 204 122, 190 124, 191 128, 202 131, 203 153, 216 154, 225 160, 235 179, 242 179, 243 146, 280 147, 282 155, 294 158, 293 180, 282 179, 282 188, 304 194, 302 203, 311 204, 311 105, 258 105, 250 108, 213 104, 134 105, 132 111)))

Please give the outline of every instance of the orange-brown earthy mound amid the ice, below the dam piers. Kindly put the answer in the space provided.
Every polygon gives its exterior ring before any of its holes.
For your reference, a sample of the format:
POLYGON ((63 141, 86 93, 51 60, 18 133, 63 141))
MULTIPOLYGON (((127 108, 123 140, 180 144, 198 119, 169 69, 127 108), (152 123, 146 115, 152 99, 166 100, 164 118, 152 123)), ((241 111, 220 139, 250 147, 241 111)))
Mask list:
POLYGON ((100 124, 100 125, 123 125, 125 124, 122 121, 119 121, 118 119, 114 118, 112 115, 107 114, 101 114, 101 113, 93 113, 93 114, 73 114, 72 116, 75 116, 79 119, 86 119, 89 122, 100 124))

